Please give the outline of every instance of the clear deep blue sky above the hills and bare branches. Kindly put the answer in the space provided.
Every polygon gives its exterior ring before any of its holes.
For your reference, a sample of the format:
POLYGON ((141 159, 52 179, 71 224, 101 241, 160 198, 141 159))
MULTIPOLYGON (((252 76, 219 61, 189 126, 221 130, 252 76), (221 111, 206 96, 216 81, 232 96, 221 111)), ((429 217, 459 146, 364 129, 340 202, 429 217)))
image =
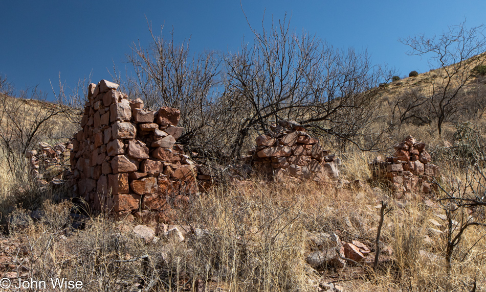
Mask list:
MULTIPOLYGON (((49 81, 74 86, 92 72, 109 79, 115 64, 125 71, 132 42, 147 46, 146 18, 163 35, 191 38, 191 52, 233 51, 252 34, 239 1, 7 1, 0 0, 0 74, 17 88, 38 85, 52 98, 49 81), (146 17, 146 18, 145 18, 146 17)), ((249 1, 243 8, 252 24, 292 15, 297 31, 316 33, 337 47, 367 49, 374 64, 395 66, 400 76, 428 71, 427 59, 407 56, 398 39, 441 33, 467 18, 484 21, 486 1, 249 1)), ((267 22, 268 23, 268 22, 267 22)))

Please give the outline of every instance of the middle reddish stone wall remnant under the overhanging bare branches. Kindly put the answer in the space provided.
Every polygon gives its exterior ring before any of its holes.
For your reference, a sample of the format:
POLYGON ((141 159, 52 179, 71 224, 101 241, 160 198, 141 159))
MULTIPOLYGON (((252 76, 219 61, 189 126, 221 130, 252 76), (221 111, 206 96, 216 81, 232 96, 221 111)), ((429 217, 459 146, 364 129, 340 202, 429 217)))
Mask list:
POLYGON ((307 130, 294 121, 280 120, 256 138, 246 157, 253 169, 268 178, 306 178, 321 181, 339 177, 339 158, 329 155, 307 130))

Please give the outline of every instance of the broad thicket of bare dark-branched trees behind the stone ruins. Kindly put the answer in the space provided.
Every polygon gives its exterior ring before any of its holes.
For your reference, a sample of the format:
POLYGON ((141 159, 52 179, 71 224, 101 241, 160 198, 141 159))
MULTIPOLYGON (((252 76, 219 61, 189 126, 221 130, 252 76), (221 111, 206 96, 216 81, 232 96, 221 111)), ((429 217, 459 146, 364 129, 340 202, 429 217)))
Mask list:
MULTIPOLYGON (((251 28, 251 26, 250 26, 251 28)), ((252 134, 280 119, 372 150, 386 132, 378 117, 378 85, 391 78, 366 52, 340 50, 317 36, 298 34, 285 19, 226 55, 191 57, 189 42, 154 36, 148 49, 132 47, 135 77, 126 88, 150 106, 181 109, 181 141, 218 159, 238 159, 252 134), (210 152, 210 153, 209 153, 210 152)), ((150 32, 152 30, 150 29, 150 32)))

